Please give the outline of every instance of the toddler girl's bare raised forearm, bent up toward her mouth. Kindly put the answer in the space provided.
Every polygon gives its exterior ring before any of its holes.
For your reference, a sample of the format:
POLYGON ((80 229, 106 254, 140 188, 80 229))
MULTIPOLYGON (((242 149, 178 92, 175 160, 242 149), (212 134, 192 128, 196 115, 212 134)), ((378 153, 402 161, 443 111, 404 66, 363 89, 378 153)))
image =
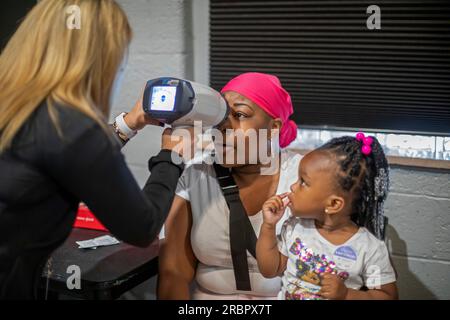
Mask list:
POLYGON ((263 223, 256 243, 256 259, 261 274, 266 278, 274 278, 283 274, 287 257, 278 250, 275 226, 263 223))

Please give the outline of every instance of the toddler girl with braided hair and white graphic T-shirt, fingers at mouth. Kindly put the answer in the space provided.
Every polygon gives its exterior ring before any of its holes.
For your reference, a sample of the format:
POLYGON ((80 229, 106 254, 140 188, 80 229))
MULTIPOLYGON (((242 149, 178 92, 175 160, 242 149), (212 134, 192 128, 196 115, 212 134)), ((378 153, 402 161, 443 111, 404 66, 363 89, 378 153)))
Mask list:
POLYGON ((256 256, 265 277, 282 276, 280 299, 397 298, 383 242, 388 169, 376 138, 335 138, 303 157, 292 193, 264 203, 256 256))

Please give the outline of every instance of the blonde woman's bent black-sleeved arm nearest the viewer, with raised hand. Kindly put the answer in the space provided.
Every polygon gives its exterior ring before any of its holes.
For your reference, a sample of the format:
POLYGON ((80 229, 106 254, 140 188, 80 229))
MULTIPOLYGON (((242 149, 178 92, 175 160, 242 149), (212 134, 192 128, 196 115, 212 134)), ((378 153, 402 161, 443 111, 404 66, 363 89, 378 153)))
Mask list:
POLYGON ((170 131, 162 138, 167 149, 151 159, 152 174, 141 190, 118 144, 97 123, 69 108, 61 108, 60 119, 62 139, 56 129, 38 137, 40 168, 67 199, 86 203, 115 236, 137 246, 151 243, 164 224, 183 170, 182 163, 172 161, 177 154, 170 151, 170 131))

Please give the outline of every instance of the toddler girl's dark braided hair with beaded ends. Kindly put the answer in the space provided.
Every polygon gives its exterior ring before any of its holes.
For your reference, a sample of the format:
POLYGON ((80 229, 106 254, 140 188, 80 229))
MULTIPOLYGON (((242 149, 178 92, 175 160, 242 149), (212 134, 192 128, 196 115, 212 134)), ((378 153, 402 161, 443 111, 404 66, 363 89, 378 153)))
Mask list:
POLYGON ((318 150, 336 156, 340 171, 338 186, 353 195, 351 219, 366 227, 378 239, 383 238, 383 205, 389 191, 389 165, 375 137, 371 137, 371 153, 365 155, 363 143, 354 137, 334 138, 318 150))

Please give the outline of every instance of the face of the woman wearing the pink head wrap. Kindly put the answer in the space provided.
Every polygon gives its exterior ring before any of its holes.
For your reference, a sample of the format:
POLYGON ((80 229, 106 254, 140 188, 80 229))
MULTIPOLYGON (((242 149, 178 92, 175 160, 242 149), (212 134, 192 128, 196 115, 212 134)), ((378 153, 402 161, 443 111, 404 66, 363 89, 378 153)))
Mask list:
POLYGON ((223 146, 216 145, 217 152, 222 147, 223 166, 231 168, 259 163, 261 144, 267 146, 265 137, 270 139, 271 129, 281 128, 281 120, 271 118, 256 103, 237 92, 227 91, 224 98, 230 107, 230 114, 220 127, 223 146), (267 135, 261 129, 267 130, 267 135))

